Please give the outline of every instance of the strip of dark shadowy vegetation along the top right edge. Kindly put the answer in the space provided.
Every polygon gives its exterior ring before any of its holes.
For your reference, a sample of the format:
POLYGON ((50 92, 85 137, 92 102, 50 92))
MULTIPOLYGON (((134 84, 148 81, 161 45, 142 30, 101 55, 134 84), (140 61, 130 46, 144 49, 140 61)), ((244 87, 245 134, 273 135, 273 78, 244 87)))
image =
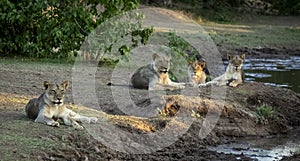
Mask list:
MULTIPOLYGON (((206 9, 213 10, 216 12, 219 11, 240 11, 245 12, 244 10, 247 7, 251 11, 255 11, 254 8, 262 7, 264 10, 273 10, 273 14, 276 15, 299 15, 300 14, 300 1, 299 0, 171 0, 167 3, 168 0, 141 0, 142 4, 150 4, 157 6, 169 6, 169 7, 180 7, 180 8, 189 8, 195 13, 205 13, 206 9), (269 4, 267 4, 269 3, 269 4), (202 11, 200 10, 202 9, 202 11), (198 11, 196 11, 198 10, 198 11)), ((262 12, 262 14, 264 14, 262 12)))

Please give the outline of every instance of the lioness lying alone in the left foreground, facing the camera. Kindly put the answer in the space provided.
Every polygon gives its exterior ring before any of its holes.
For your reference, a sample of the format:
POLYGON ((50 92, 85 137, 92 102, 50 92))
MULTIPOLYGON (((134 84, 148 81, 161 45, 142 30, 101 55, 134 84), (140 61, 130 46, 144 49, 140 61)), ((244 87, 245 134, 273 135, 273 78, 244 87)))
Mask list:
POLYGON ((31 99, 26 105, 26 114, 35 122, 45 123, 49 126, 59 126, 54 119, 62 119, 65 125, 83 129, 76 121, 96 123, 96 117, 81 116, 64 105, 64 93, 69 87, 69 82, 60 85, 44 81, 45 92, 39 97, 31 99))

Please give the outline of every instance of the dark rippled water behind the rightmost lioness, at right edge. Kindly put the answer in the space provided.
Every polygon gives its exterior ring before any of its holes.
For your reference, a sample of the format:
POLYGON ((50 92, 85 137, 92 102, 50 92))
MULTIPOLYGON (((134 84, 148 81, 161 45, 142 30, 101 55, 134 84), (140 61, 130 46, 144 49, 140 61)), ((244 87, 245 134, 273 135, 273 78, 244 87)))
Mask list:
POLYGON ((300 93, 300 57, 289 59, 247 59, 243 67, 246 81, 290 88, 300 93))

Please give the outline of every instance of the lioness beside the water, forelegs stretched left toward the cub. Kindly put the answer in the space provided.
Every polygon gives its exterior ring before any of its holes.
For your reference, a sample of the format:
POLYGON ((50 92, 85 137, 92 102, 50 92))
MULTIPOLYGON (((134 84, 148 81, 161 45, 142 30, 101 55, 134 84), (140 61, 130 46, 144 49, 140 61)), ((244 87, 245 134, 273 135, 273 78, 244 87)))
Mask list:
POLYGON ((244 81, 242 66, 245 60, 245 54, 241 54, 241 55, 227 54, 227 60, 228 60, 228 66, 224 74, 213 79, 210 82, 207 82, 205 84, 200 84, 199 86, 207 86, 212 84, 218 86, 229 85, 231 87, 236 87, 239 84, 242 84, 244 81))

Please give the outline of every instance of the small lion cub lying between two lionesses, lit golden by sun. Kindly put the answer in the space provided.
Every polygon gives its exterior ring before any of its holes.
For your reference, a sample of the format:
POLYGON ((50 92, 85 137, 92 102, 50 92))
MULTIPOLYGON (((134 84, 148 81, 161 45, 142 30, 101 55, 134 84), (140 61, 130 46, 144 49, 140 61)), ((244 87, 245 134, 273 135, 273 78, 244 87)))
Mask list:
POLYGON ((196 87, 199 84, 204 84, 206 80, 206 74, 203 71, 205 68, 205 62, 196 60, 189 62, 188 65, 188 82, 190 85, 196 87))

